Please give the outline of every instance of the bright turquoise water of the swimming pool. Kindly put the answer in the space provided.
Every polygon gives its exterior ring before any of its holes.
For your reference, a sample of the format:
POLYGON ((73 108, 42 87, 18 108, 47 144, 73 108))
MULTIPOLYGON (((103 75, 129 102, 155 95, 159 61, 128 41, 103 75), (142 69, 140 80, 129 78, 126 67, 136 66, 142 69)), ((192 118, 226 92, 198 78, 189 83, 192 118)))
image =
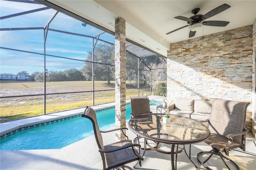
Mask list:
MULTIPOLYGON (((150 105, 159 105, 150 101, 150 105)), ((126 120, 130 119, 131 105, 126 105, 126 120)), ((115 125, 115 109, 96 113, 100 130, 115 125)), ((58 123, 23 130, 0 140, 0 150, 57 149, 93 135, 90 120, 77 117, 58 123)))

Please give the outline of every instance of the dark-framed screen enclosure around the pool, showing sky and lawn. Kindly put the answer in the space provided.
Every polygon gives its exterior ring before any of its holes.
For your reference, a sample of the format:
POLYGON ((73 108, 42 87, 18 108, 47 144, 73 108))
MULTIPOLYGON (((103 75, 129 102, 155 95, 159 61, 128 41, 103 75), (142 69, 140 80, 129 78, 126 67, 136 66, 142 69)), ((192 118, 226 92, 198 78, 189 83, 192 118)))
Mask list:
MULTIPOLYGON (((0 9, 1 122, 115 101, 114 33, 32 0, 0 9)), ((166 58, 127 40, 126 99, 164 82, 166 58)))

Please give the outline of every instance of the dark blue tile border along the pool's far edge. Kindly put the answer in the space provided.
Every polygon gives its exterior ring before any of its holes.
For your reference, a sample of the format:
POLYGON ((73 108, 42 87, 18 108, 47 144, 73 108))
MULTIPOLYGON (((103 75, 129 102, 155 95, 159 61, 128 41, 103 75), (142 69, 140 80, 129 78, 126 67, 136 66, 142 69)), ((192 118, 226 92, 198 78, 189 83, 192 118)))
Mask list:
MULTIPOLYGON (((129 105, 129 104, 130 103, 127 103, 126 105, 129 105)), ((106 107, 104 109, 97 109, 97 110, 95 110, 95 112, 97 113, 97 112, 100 112, 100 111, 106 111, 106 110, 113 109, 113 108, 115 108, 115 106, 106 107)), ((23 130, 36 128, 36 127, 41 127, 41 126, 49 125, 49 124, 52 124, 52 123, 57 123, 57 122, 60 122, 60 121, 66 121, 68 119, 74 119, 74 118, 77 118, 77 117, 80 117, 80 116, 81 116, 81 113, 78 113, 77 115, 73 115, 73 116, 70 116, 70 117, 59 118, 59 119, 55 119, 55 120, 51 120, 51 121, 35 123, 34 125, 29 125, 29 126, 26 126, 26 127, 17 128, 17 129, 14 129, 14 130, 10 131, 10 132, 2 134, 0 136, 0 140, 3 139, 3 138, 6 138, 6 137, 8 137, 12 134, 15 134, 17 132, 23 131, 23 130)))

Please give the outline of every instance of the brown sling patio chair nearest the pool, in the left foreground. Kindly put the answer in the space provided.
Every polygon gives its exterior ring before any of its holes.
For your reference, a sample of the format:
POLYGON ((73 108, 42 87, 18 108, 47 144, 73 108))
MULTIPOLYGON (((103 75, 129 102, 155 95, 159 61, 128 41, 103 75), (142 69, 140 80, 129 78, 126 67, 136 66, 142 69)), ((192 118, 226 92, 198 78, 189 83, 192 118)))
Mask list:
POLYGON ((84 113, 81 116, 88 118, 90 119, 90 121, 92 121, 94 136, 98 144, 98 150, 102 157, 103 170, 109 170, 114 168, 128 168, 132 170, 132 168, 125 164, 133 161, 138 161, 134 165, 134 168, 138 163, 141 166, 141 161, 143 160, 143 158, 142 156, 140 156, 140 154, 135 148, 136 146, 140 147, 140 144, 133 144, 132 140, 129 140, 128 136, 126 136, 125 134, 124 135, 127 137, 126 140, 122 140, 105 146, 103 145, 103 138, 101 132, 112 132, 114 130, 122 130, 122 132, 124 133, 123 130, 128 130, 128 128, 116 128, 113 130, 101 131, 98 127, 95 111, 87 106, 84 110, 84 113))

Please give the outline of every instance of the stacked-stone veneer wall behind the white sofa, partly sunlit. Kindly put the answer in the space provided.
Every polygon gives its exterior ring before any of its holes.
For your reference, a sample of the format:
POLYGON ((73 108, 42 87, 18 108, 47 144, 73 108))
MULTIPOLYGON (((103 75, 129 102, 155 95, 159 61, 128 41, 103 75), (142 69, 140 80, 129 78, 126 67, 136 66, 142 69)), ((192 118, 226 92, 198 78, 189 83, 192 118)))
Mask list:
POLYGON ((167 97, 252 102, 252 25, 170 44, 167 97))

